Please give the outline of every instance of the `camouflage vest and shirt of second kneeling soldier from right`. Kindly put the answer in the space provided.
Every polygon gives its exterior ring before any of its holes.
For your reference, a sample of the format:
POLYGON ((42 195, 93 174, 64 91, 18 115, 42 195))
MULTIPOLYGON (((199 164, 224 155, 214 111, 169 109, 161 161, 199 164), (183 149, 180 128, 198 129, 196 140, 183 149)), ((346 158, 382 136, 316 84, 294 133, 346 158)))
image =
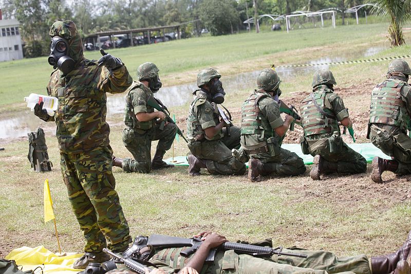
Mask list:
POLYGON ((319 140, 327 138, 332 135, 334 131, 340 134, 340 128, 337 121, 342 121, 348 117, 348 111, 344 106, 344 102, 340 96, 333 93, 333 90, 326 85, 319 85, 313 89, 313 96, 322 110, 330 117, 327 118, 320 113, 320 111, 312 103, 311 94, 303 100, 300 106, 301 123, 304 129, 304 135, 307 140, 319 140), (310 110, 311 109, 311 110, 310 110), (316 115, 315 117, 312 115, 316 115), (308 130, 308 126, 312 125, 312 120, 317 120, 315 123, 322 125, 325 131, 319 131, 319 134, 313 134, 308 130))

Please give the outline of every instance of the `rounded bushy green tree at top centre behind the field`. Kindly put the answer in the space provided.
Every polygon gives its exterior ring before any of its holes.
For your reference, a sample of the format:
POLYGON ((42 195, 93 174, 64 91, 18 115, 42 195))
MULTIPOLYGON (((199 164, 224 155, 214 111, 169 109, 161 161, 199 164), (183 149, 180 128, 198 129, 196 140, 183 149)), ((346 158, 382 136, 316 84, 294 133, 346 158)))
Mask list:
POLYGON ((233 26, 237 26, 239 15, 235 5, 235 0, 204 0, 200 4, 200 19, 212 35, 231 33, 233 26))

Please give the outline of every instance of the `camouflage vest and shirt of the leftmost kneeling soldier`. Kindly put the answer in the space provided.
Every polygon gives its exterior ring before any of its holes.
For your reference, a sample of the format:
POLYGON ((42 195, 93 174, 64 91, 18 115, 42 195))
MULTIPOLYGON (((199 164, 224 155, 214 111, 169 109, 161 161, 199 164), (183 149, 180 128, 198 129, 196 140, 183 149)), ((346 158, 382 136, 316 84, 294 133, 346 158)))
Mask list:
POLYGON ((149 130, 156 124, 156 119, 140 122, 136 114, 141 112, 153 113, 154 108, 147 105, 148 99, 154 97, 150 88, 143 83, 134 82, 128 89, 125 96, 124 123, 133 130, 149 130))

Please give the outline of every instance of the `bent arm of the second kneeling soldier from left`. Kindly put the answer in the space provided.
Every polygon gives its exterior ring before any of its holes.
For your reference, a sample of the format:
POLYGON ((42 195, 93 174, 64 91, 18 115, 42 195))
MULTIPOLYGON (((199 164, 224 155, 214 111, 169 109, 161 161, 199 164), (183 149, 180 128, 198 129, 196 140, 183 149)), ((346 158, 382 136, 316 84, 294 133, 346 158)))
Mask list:
POLYGON ((194 113, 196 114, 204 133, 206 133, 206 136, 209 139, 212 139, 224 126, 227 125, 224 121, 220 121, 217 125, 215 124, 213 114, 214 109, 210 102, 194 106, 194 113))

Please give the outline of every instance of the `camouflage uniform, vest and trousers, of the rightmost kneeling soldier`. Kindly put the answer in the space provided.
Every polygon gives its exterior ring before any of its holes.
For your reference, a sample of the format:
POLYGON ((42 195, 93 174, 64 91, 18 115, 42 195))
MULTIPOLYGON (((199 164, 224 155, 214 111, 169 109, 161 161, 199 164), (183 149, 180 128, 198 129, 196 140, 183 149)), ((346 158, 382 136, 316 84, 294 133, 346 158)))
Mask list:
POLYGON ((406 135, 411 114, 411 86, 399 77, 378 84, 371 94, 369 138, 398 161, 397 174, 411 173, 411 138, 406 135))

